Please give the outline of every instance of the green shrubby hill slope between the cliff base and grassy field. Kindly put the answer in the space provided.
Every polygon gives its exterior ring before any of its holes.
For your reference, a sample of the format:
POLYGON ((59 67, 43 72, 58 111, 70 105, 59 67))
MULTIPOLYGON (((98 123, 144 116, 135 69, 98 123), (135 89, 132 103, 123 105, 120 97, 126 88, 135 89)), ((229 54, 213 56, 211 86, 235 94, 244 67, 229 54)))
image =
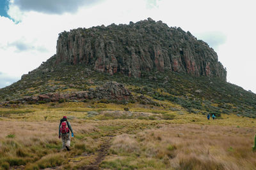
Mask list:
MULTIPOLYGON (((102 86, 107 81, 116 81, 134 92, 134 96, 152 97, 160 104, 164 100, 171 101, 186 108, 190 113, 215 113, 217 116, 221 113, 235 113, 256 117, 256 95, 220 78, 170 71, 141 71, 141 77, 136 78, 118 73, 100 73, 83 64, 62 63, 54 66, 54 62, 56 56, 44 62, 38 69, 22 76, 16 83, 0 89, 0 100, 10 102, 25 96, 51 92, 72 93, 102 86)), ((147 104, 140 97, 134 97, 134 101, 121 102, 147 104)))

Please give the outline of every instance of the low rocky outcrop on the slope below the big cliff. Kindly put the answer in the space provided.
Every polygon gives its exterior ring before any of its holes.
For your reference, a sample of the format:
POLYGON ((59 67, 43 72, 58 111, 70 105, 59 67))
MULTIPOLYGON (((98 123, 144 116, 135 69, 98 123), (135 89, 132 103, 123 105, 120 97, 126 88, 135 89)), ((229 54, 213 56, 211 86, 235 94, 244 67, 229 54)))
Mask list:
MULTIPOLYGON (((72 92, 72 93, 47 93, 38 96, 28 96, 19 99, 20 102, 56 102, 64 100, 84 100, 84 99, 107 99, 107 100, 129 100, 132 99, 132 94, 128 89, 125 89, 121 83, 109 81, 102 87, 90 88, 87 91, 72 92)), ((7 102, 8 103, 8 102, 7 102)), ((9 102, 10 103, 10 102, 9 102)))

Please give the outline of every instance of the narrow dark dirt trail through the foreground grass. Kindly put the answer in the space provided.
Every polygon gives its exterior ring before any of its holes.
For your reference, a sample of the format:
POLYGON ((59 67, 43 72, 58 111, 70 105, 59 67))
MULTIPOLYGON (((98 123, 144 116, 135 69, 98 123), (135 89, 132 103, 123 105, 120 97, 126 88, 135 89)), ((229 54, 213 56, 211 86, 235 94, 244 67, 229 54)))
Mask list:
POLYGON ((108 136, 109 138, 106 139, 106 141, 102 144, 102 146, 100 147, 100 149, 95 153, 97 155, 95 161, 88 165, 88 166, 83 166, 80 167, 80 170, 96 170, 99 169, 99 165, 100 163, 104 160, 104 158, 106 157, 108 150, 110 148, 110 143, 111 143, 111 139, 113 138, 113 136, 108 136))

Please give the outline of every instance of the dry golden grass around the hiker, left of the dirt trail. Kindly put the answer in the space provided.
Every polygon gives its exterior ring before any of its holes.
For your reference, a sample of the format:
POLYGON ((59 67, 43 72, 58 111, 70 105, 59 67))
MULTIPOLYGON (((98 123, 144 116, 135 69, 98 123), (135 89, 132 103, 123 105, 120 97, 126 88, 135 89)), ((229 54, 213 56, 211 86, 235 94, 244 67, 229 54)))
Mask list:
MULTIPOLYGON (((93 124, 78 124, 72 122, 76 138, 71 139, 71 152, 58 153, 61 148, 61 139, 58 138, 59 122, 6 122, 1 121, 0 129, 0 164, 10 166, 27 165, 45 168, 67 164, 63 155, 73 157, 83 152, 94 152, 100 143, 82 134, 97 132, 93 124), (83 147, 79 143, 85 143, 83 147), (57 153, 56 153, 57 152, 57 153), (30 163, 30 164, 28 164, 30 163)), ((33 168, 32 168, 33 169, 33 168)))

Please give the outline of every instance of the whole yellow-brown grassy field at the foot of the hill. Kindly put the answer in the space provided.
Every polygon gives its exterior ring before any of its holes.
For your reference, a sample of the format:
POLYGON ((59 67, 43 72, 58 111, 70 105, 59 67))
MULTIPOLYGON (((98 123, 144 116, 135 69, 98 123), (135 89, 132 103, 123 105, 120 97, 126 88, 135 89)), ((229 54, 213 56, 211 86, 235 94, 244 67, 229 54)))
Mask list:
POLYGON ((1 169, 256 169, 254 118, 231 114, 207 120, 163 103, 0 108, 1 169), (70 152, 61 151, 58 138, 63 115, 75 135, 70 152))

